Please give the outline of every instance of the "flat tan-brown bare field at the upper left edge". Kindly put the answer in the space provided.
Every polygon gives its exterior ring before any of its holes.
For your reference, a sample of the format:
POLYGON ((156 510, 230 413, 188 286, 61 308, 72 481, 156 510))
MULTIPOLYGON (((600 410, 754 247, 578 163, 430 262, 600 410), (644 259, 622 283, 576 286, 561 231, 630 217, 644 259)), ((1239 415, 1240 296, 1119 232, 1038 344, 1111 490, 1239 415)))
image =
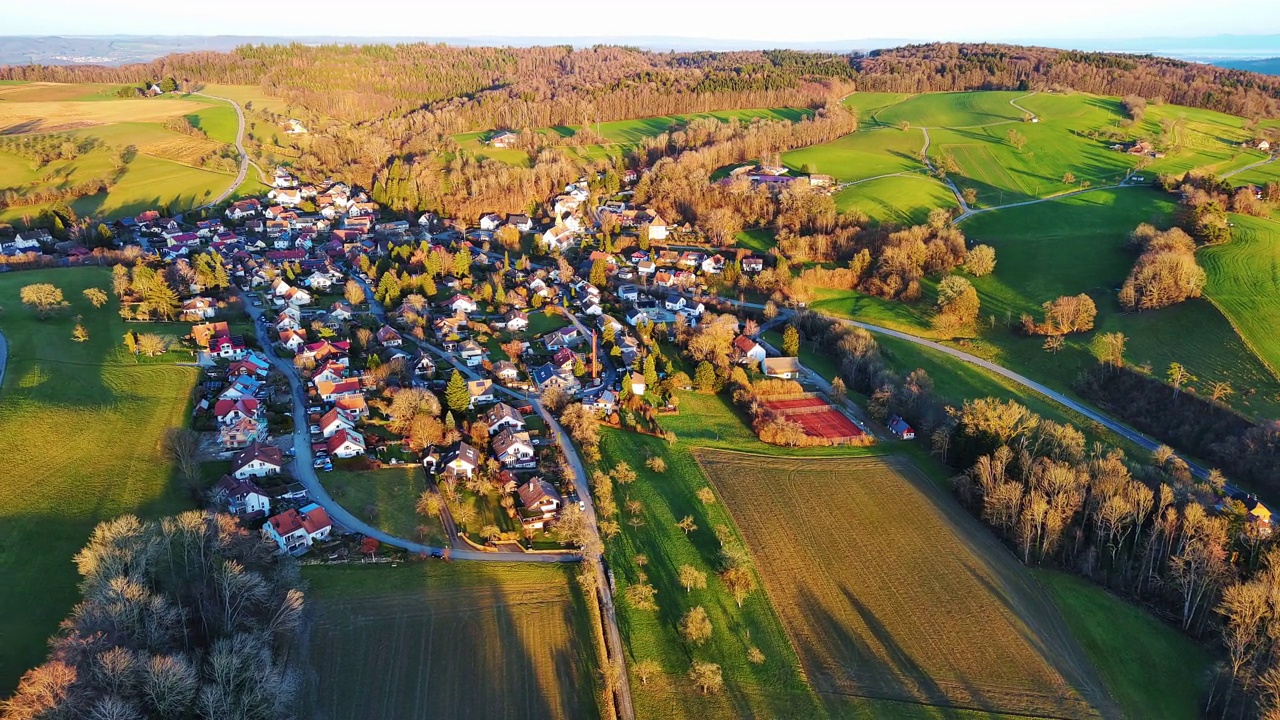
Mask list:
MULTIPOLYGON (((83 86, 81 90, 83 91, 83 86)), ((209 105, 189 100, 145 97, 110 102, 4 101, 0 102, 0 135, 55 132, 123 122, 160 122, 207 108, 209 105)))

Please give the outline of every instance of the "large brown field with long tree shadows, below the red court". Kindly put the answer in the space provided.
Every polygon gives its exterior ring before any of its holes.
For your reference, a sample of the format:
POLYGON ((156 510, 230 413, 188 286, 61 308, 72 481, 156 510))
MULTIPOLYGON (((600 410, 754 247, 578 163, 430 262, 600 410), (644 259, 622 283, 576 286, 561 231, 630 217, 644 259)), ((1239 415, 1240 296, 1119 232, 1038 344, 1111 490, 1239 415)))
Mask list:
POLYGON ((1044 589, 908 461, 695 456, 832 708, 1115 714, 1044 589))

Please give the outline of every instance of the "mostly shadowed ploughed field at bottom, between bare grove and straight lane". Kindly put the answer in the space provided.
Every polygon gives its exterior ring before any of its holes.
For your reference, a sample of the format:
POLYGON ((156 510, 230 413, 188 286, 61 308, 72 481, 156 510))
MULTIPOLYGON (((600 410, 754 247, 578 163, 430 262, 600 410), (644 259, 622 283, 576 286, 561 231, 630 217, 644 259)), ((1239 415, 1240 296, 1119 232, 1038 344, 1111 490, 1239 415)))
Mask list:
POLYGON ((303 716, 600 716, 600 660, 573 569, 310 568, 316 682, 303 716))

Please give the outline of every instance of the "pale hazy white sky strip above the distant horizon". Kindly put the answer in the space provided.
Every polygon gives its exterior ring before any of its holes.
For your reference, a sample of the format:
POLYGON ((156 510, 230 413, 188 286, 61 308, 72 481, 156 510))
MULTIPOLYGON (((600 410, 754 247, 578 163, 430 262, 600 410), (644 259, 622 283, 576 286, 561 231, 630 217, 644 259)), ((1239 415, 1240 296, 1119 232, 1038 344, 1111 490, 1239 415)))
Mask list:
POLYGON ((1280 32, 1275 0, 12 0, 0 35, 1019 40, 1280 32))

